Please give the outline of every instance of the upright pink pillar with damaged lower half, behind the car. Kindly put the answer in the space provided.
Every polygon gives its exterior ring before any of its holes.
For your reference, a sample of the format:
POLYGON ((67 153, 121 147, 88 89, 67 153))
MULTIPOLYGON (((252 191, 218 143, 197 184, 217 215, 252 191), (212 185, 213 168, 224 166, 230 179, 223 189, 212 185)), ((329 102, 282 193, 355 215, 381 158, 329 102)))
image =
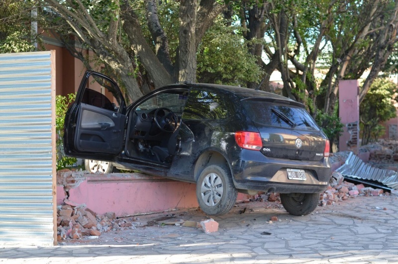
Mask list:
POLYGON ((339 150, 358 154, 359 145, 359 96, 358 80, 339 81, 339 117, 344 124, 339 139, 339 150))

